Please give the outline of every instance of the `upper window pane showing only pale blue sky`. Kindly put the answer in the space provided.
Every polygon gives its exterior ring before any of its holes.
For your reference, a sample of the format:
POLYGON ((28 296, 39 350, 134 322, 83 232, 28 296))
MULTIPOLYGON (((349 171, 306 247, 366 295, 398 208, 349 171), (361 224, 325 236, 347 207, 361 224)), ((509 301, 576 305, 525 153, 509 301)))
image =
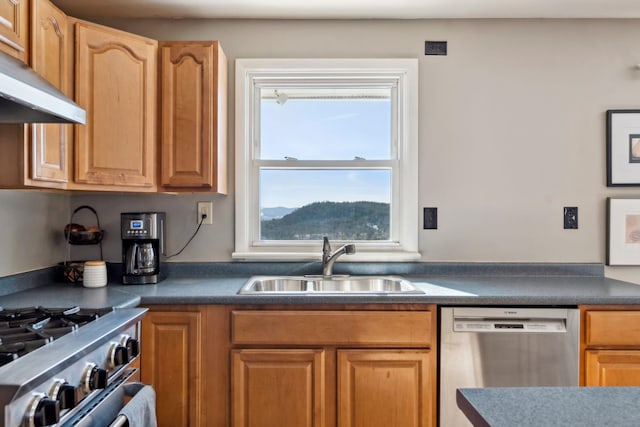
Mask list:
POLYGON ((386 160, 391 89, 261 89, 260 158, 386 160))

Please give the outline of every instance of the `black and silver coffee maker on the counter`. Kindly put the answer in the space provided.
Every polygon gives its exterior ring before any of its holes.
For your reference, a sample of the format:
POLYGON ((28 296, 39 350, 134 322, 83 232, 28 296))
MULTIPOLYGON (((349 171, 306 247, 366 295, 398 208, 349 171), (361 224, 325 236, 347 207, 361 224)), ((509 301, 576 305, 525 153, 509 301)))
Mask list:
POLYGON ((164 278, 160 257, 166 255, 165 220, 164 212, 120 214, 123 284, 158 283, 164 278))

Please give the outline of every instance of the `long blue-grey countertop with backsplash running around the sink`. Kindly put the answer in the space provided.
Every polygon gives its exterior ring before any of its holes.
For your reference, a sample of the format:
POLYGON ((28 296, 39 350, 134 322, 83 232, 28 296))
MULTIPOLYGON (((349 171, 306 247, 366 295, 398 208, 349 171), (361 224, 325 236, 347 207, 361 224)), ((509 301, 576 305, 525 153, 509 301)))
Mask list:
MULTIPOLYGON (((10 292, 0 296, 5 308, 31 305, 86 308, 131 307, 139 304, 371 304, 433 303, 439 305, 575 306, 578 304, 638 304, 640 285, 603 277, 601 264, 585 265, 432 265, 394 264, 395 271, 422 295, 238 295, 252 274, 305 274, 296 264, 185 264, 167 268, 169 277, 156 285, 109 283, 104 288, 45 281, 20 290, 15 278, 10 292), (404 273, 404 274, 403 274, 404 273)), ((315 267, 315 266, 312 266, 315 267)), ((354 267, 353 274, 387 274, 379 265, 354 267), (358 269, 359 268, 359 269, 358 269)), ((315 271, 315 270, 311 270, 315 271)), ((31 276, 31 275, 30 275, 31 276)), ((118 274, 110 272, 113 281, 118 274)), ((42 277, 38 280, 42 282, 42 277)), ((0 291, 3 280, 0 280, 0 291)), ((33 282, 33 279, 31 279, 33 282)))

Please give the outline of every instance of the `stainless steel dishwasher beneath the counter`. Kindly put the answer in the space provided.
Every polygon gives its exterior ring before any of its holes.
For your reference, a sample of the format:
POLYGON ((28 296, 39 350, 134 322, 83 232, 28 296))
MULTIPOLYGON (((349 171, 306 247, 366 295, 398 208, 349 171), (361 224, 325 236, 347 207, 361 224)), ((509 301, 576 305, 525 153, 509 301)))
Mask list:
POLYGON ((440 426, 470 426, 461 387, 577 386, 580 312, 575 308, 440 309, 440 426))

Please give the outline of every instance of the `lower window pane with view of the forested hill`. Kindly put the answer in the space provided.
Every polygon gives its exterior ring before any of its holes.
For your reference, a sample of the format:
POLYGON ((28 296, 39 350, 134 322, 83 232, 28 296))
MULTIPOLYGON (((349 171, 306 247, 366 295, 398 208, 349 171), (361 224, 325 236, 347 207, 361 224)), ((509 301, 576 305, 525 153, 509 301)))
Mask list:
POLYGON ((391 170, 260 170, 261 240, 390 240, 391 170))

